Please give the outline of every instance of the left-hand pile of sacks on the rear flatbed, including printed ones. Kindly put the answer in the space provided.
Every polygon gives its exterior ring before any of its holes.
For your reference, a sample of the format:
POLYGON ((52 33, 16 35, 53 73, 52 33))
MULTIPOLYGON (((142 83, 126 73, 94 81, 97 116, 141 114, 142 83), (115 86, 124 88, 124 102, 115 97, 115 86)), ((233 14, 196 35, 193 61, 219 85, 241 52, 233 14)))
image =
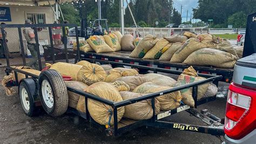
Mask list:
MULTIPOLYGON (((96 53, 114 51, 133 51, 142 38, 134 39, 132 35, 122 35, 113 31, 104 36, 91 36, 87 40, 79 40, 79 49, 83 52, 95 51, 96 53)), ((77 50, 77 43, 73 43, 73 50, 77 50)))

